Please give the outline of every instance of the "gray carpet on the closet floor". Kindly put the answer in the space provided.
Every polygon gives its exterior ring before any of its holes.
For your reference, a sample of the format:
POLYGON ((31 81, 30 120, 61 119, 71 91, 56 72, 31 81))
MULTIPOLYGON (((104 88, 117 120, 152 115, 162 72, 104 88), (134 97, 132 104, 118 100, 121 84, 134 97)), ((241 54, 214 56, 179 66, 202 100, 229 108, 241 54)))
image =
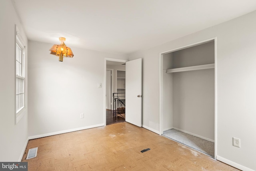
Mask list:
POLYGON ((165 137, 173 139, 174 141, 178 141, 188 147, 201 151, 207 155, 214 157, 214 143, 195 137, 193 135, 189 135, 187 133, 177 131, 175 129, 169 129, 164 131, 163 134, 165 137))

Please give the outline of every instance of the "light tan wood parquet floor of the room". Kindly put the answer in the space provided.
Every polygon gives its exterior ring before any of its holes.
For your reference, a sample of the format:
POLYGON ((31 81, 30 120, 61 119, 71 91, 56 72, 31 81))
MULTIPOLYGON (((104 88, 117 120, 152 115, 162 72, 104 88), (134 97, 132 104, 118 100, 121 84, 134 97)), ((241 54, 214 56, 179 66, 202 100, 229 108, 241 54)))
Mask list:
POLYGON ((22 161, 28 171, 238 170, 127 122, 29 140, 22 161), (25 160, 34 147, 37 157, 25 160))

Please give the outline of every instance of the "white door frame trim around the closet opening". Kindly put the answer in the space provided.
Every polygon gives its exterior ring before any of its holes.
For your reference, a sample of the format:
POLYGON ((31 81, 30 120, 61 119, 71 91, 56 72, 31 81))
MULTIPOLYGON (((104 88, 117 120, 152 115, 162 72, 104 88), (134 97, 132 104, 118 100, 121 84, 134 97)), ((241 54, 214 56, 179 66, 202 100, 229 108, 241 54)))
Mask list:
POLYGON ((160 58, 159 58, 159 64, 160 64, 160 70, 159 70, 159 74, 160 74, 160 79, 159 79, 159 84, 160 84, 160 89, 159 89, 159 93, 160 93, 160 100, 159 100, 159 133, 160 135, 163 134, 163 56, 164 54, 168 54, 168 53, 171 53, 171 52, 175 52, 175 51, 178 51, 178 50, 182 50, 182 49, 186 49, 186 48, 190 48, 190 47, 193 47, 193 46, 197 46, 197 45, 200 45, 200 44, 204 44, 204 43, 207 43, 207 42, 211 42, 211 41, 214 41, 214 64, 215 64, 215 67, 214 67, 214 159, 216 159, 216 156, 217 156, 217 50, 216 50, 216 47, 217 47, 217 38, 214 37, 214 38, 210 38, 210 39, 207 39, 207 40, 202 40, 200 42, 196 42, 196 43, 193 43, 193 44, 189 44, 189 45, 186 45, 186 46, 182 46, 182 47, 179 47, 179 48, 175 48, 175 49, 172 49, 172 50, 168 50, 168 51, 165 51, 165 52, 161 52, 160 53, 160 58))

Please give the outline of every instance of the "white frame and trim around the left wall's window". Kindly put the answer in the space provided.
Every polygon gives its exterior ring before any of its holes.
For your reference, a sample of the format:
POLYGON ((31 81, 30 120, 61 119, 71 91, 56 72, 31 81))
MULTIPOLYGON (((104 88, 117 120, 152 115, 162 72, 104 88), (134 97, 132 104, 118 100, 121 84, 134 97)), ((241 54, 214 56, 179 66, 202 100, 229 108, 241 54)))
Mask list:
POLYGON ((20 121, 20 119, 24 116, 25 112, 24 109, 26 107, 25 104, 25 46, 22 41, 22 38, 18 34, 18 29, 16 28, 16 44, 15 44, 15 124, 20 121), (17 46, 21 50, 21 60, 17 61, 17 46), (20 64, 20 74, 17 74, 17 63, 20 64), (18 80, 21 80, 21 87, 17 87, 18 80), (20 94, 22 97, 20 98, 20 94), (18 100, 21 102, 19 103, 21 106, 18 106, 18 100))

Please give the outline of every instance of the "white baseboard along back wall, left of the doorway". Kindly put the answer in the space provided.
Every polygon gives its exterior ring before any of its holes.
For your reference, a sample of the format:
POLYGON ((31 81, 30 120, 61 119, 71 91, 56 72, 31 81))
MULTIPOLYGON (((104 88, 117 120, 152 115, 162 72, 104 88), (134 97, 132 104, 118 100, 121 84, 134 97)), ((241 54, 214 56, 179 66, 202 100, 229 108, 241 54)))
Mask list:
POLYGON ((36 139, 36 138, 48 137, 48 136, 52 136, 52 135, 58 135, 58 134, 68 133, 68 132, 74 132, 74 131, 80 131, 80 130, 83 130, 83 129, 90 129, 90 128, 101 127, 101 126, 105 126, 105 124, 102 123, 102 124, 98 124, 98 125, 90 125, 90 126, 86 126, 86 127, 79 127, 79 128, 74 128, 74 129, 67 129, 67 130, 64 130, 64 131, 57 131, 57 132, 51 132, 51 133, 44 133, 44 134, 40 134, 40 135, 30 136, 30 137, 28 137, 28 139, 36 139))

